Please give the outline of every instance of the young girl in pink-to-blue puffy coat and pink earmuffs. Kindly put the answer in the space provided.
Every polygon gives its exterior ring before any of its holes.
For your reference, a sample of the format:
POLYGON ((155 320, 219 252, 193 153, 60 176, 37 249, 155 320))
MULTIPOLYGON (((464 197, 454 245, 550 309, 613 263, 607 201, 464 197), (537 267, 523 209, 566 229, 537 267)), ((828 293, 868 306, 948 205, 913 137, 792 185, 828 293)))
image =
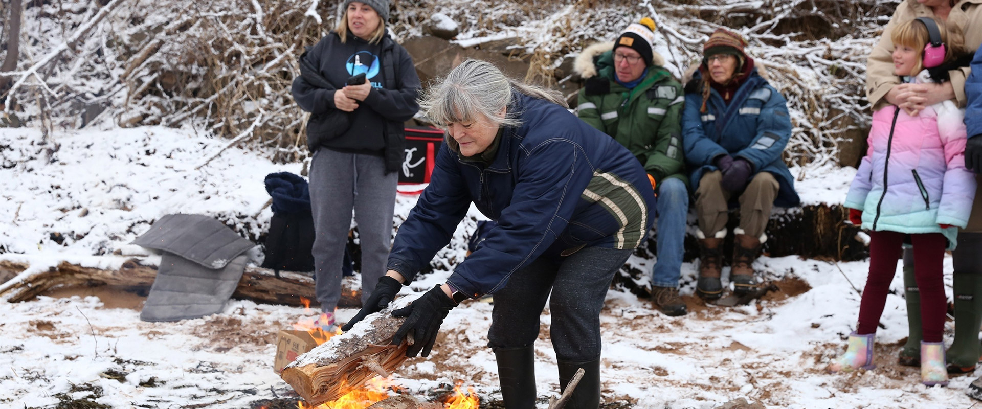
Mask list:
MULTIPOLYGON (((913 20, 892 33, 895 74, 910 82, 938 81, 924 69, 930 19, 913 20)), ((952 42, 958 42, 952 36, 952 42)), ((959 44, 948 44, 946 61, 959 44)), ((947 302, 942 281, 945 249, 954 249, 958 228, 971 213, 975 179, 965 169, 964 112, 944 101, 909 115, 904 107, 887 106, 873 114, 869 150, 846 196, 849 220, 869 230, 869 277, 859 304, 859 322, 849 334, 846 353, 829 371, 872 369, 873 338, 883 313, 890 282, 897 271, 902 245, 913 246, 915 277, 920 288, 921 382, 948 384, 942 334, 947 302)), ((917 314, 916 311, 909 312, 917 314)))

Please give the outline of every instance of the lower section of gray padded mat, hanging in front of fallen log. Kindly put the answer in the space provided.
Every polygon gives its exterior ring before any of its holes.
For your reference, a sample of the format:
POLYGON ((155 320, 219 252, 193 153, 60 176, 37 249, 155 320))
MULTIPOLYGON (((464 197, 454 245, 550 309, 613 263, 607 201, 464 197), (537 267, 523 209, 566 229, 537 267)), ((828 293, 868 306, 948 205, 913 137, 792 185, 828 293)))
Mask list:
POLYGON ((221 312, 239 286, 246 260, 246 255, 241 255, 224 268, 215 270, 164 253, 139 319, 178 321, 221 312))

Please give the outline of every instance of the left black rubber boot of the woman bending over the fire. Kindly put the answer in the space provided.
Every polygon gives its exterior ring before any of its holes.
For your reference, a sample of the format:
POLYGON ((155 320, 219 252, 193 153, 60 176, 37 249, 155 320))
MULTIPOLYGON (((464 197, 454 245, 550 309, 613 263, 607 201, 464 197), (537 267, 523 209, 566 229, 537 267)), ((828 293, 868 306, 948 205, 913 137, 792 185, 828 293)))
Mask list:
POLYGON ((535 348, 495 348, 502 401, 507 409, 535 408, 535 348))

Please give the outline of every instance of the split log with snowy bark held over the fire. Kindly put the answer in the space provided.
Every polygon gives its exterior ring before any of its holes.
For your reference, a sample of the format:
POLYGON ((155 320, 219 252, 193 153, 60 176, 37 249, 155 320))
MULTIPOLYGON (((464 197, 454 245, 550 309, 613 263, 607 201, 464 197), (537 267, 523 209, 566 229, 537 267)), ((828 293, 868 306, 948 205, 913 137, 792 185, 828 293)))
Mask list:
POLYGON ((394 308, 390 304, 365 317, 352 331, 332 336, 300 355, 283 368, 280 378, 313 406, 337 400, 378 375, 388 378, 406 361, 409 346, 406 341, 400 345, 389 343, 406 321, 392 316, 394 308))

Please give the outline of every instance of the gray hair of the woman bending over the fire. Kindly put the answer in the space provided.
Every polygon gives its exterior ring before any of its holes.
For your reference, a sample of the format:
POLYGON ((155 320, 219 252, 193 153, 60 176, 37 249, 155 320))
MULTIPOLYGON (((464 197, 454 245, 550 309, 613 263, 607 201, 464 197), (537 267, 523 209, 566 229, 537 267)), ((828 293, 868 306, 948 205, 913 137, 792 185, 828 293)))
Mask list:
MULTIPOLYGON (((425 90, 419 106, 430 121, 441 127, 471 122, 479 116, 499 127, 518 127, 520 113, 499 116, 513 102, 513 90, 569 108, 561 93, 509 78, 491 63, 474 59, 467 59, 425 90)), ((449 136, 448 141, 453 142, 449 136)), ((456 147, 456 143, 451 143, 451 147, 456 147)))

